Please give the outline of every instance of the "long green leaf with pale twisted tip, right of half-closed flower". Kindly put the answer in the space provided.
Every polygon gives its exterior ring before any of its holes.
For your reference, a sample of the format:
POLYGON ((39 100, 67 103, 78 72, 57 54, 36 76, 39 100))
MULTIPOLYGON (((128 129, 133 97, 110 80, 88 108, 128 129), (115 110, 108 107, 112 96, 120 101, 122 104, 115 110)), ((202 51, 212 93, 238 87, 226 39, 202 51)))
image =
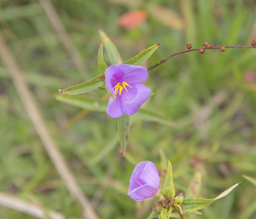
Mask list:
POLYGON ((208 198, 184 198, 183 201, 183 212, 189 213, 189 212, 195 212, 196 210, 203 209, 210 204, 212 204, 214 201, 219 200, 219 198, 223 198, 227 194, 229 194, 233 189, 235 189, 236 186, 238 186, 240 182, 236 183, 226 191, 222 192, 220 195, 218 195, 216 198, 208 199, 208 198))

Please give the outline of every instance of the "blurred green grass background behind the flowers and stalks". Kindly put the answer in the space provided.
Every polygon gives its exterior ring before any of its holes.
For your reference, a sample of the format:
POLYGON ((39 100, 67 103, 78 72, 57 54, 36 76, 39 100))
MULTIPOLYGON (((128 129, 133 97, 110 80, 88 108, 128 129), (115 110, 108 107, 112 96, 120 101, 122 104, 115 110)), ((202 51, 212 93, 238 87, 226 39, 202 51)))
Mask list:
MULTIPOLYGON (((43 2, 2 0, 1 36, 99 218, 148 217, 153 201, 136 203, 126 195, 135 164, 146 160, 163 170, 163 178, 166 161, 172 162, 177 193, 185 193, 199 165, 204 169, 200 197, 214 198, 242 182, 197 218, 255 218, 256 187, 242 176, 256 178, 255 49, 191 52, 150 71, 145 85, 155 95, 143 108, 177 126, 131 116, 124 156, 120 155, 116 119, 58 102, 54 94, 99 74, 98 29, 112 39, 123 60, 161 43, 144 64, 149 68, 187 49, 188 43, 193 48, 204 41, 250 46, 256 40, 256 1, 52 0, 78 59, 66 49, 43 2), (120 16, 133 10, 146 12, 146 21, 129 30, 119 26, 120 16)), ((105 98, 99 91, 83 95, 105 98)), ((0 191, 58 210, 66 218, 82 218, 82 207, 68 193, 44 151, 1 60, 0 121, 0 191)), ((0 218, 34 217, 0 206, 0 218)))

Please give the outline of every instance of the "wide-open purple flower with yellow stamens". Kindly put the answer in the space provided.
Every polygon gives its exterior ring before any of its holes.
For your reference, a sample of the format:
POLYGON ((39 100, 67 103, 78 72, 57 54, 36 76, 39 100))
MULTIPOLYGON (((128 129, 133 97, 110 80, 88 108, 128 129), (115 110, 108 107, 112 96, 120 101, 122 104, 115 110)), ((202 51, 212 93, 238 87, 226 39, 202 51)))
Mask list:
POLYGON ((107 114, 113 118, 136 113, 148 100, 151 90, 140 82, 148 78, 148 70, 131 64, 113 64, 105 71, 107 89, 116 96, 109 98, 107 114))

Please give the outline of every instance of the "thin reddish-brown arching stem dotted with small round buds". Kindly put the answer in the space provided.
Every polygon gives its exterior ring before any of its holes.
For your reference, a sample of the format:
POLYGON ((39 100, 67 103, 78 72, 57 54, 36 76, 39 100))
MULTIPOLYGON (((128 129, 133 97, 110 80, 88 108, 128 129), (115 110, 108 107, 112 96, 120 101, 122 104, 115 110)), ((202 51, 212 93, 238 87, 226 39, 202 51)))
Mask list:
MULTIPOLYGON (((236 46, 212 46, 211 48, 209 49, 221 49, 222 47, 225 47, 225 49, 227 48, 235 48, 235 49, 238 49, 238 48, 245 48, 245 49, 256 49, 255 46, 240 46, 240 45, 236 45, 236 46)), ((177 52, 176 54, 172 54, 170 55, 169 57, 167 58, 164 58, 162 61, 159 61, 157 64, 155 64, 154 66, 151 66, 150 68, 148 68, 148 71, 150 71, 151 69, 154 69, 155 67, 157 67, 158 65, 164 63, 165 61, 167 61, 169 58, 172 58, 176 55, 180 55, 180 54, 183 54, 183 53, 186 53, 186 52, 193 52, 193 51, 196 51, 196 50, 200 50, 200 49, 208 49, 207 47, 199 47, 199 48, 196 48, 196 49, 187 49, 187 50, 183 50, 183 51, 180 51, 180 52, 177 52)))

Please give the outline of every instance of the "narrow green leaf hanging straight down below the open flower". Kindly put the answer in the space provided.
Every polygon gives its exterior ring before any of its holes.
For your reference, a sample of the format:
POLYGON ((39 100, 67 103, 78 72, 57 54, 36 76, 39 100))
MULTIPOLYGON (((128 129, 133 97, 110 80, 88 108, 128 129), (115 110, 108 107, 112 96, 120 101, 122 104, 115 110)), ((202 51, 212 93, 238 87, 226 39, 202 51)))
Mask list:
POLYGON ((129 137, 129 116, 123 114, 118 117, 118 134, 119 134, 119 142, 122 148, 121 153, 124 153, 126 150, 126 145, 129 137))

